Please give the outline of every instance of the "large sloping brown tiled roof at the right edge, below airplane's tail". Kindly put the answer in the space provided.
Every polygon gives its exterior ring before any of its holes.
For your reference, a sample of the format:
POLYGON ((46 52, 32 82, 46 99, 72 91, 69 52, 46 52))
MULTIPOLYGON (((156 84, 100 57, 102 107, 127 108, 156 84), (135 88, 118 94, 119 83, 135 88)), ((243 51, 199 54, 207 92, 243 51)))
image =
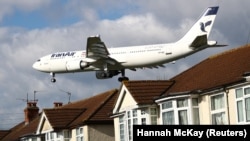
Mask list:
POLYGON ((166 94, 209 90, 245 81, 242 75, 250 71, 250 45, 210 56, 173 77, 176 83, 166 94))

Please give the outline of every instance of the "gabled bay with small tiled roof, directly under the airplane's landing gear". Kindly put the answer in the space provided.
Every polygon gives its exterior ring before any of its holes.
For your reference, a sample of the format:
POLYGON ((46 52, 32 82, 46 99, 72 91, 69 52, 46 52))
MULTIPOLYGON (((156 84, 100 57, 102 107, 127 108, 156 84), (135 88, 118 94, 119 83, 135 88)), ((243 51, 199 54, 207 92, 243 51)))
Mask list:
POLYGON ((157 124, 159 106, 154 99, 164 94, 174 81, 123 81, 113 109, 115 140, 132 140, 134 124, 157 124))

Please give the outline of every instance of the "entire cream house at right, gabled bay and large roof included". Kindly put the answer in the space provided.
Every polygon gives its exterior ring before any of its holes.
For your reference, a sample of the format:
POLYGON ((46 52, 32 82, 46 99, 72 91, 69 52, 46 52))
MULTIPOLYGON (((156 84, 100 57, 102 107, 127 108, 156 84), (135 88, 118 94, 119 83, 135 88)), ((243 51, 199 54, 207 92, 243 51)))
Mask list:
POLYGON ((115 140, 132 125, 250 123, 250 45, 213 55, 171 78, 124 81, 113 109, 115 140))

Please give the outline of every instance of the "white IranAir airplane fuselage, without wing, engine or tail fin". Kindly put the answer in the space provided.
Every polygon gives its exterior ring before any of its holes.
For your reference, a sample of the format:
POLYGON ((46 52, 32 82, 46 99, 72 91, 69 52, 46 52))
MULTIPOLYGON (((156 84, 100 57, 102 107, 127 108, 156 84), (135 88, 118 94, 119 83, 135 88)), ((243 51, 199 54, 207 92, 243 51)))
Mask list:
MULTIPOLYGON (((144 67, 157 67, 165 63, 175 61, 190 55, 192 50, 187 45, 170 43, 170 44, 154 44, 143 46, 116 47, 108 48, 109 57, 119 62, 119 65, 107 65, 108 70, 134 69, 144 67)), ((70 71, 67 69, 67 63, 78 60, 88 60, 86 51, 68 51, 49 54, 37 60, 33 64, 33 68, 42 72, 67 73, 80 71, 96 71, 104 70, 104 64, 100 62, 90 65, 82 70, 70 71)))

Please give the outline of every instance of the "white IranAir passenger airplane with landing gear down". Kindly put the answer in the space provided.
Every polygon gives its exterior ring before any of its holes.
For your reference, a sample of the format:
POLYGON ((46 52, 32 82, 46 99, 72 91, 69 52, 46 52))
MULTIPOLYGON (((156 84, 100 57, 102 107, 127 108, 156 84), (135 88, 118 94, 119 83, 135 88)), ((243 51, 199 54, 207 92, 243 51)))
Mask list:
POLYGON ((107 48, 100 35, 87 38, 86 50, 56 52, 38 59, 33 68, 50 73, 56 82, 56 73, 95 71, 97 79, 112 78, 129 80, 125 69, 165 67, 164 64, 185 58, 209 47, 222 47, 208 36, 219 6, 208 7, 191 29, 178 41, 164 44, 107 48))

